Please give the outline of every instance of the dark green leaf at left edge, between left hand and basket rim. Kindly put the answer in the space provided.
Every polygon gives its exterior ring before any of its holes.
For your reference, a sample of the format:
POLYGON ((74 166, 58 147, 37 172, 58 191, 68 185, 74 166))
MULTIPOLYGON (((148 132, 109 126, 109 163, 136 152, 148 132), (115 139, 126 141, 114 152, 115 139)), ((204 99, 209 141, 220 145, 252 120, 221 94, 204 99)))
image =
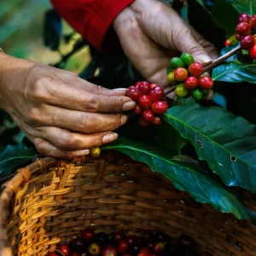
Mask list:
POLYGON ((0 154, 0 178, 9 176, 20 166, 25 166, 35 156, 34 150, 23 144, 8 145, 0 154))

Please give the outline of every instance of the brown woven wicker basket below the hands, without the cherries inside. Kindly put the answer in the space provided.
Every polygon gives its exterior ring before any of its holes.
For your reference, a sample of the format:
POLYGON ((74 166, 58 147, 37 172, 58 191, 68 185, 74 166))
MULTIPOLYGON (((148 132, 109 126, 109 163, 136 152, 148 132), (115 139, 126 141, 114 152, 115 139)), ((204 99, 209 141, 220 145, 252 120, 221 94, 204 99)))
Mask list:
POLYGON ((123 154, 73 162, 36 160, 2 186, 0 256, 46 255, 85 226, 128 234, 189 234, 214 255, 256 255, 251 222, 196 203, 123 154))

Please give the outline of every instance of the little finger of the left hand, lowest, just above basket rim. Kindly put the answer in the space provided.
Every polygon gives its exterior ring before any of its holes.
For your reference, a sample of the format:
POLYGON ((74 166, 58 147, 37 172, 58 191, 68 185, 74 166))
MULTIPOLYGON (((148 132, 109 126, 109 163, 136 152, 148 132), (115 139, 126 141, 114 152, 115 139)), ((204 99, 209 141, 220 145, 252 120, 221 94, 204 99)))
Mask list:
POLYGON ((56 148, 52 143, 49 143, 48 141, 39 137, 33 138, 32 143, 34 143, 39 154, 52 156, 55 158, 73 159, 74 157, 84 156, 90 153, 89 149, 63 151, 60 148, 56 148))

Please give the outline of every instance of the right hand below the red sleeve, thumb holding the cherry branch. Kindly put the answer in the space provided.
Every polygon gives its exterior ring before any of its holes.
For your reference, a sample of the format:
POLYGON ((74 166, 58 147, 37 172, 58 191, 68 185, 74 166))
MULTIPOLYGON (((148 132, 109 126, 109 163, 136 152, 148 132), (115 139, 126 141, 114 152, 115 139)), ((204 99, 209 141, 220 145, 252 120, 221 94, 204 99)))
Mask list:
POLYGON ((218 57, 214 46, 177 13, 156 0, 136 0, 113 21, 120 44, 135 67, 151 83, 167 87, 166 67, 187 52, 203 65, 218 57))

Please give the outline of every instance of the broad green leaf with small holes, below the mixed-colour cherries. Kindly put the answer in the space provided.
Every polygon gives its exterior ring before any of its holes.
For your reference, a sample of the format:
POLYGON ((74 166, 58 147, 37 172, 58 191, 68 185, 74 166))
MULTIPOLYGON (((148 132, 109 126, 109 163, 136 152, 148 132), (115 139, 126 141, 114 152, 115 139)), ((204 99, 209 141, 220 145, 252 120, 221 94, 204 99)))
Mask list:
POLYGON ((256 126, 223 108, 190 104, 169 108, 164 119, 194 145, 200 160, 228 186, 256 193, 256 126))

